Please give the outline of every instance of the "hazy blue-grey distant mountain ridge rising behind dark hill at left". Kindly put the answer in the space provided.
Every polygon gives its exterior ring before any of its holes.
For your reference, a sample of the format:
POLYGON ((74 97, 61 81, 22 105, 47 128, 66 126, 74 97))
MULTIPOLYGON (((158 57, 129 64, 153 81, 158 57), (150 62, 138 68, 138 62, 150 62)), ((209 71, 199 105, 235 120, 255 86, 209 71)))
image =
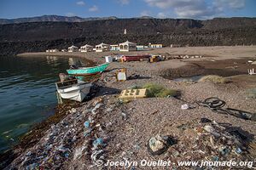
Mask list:
POLYGON ((59 16, 59 15, 43 15, 30 18, 18 18, 18 19, 0 19, 0 24, 17 24, 25 22, 84 22, 88 20, 116 20, 114 16, 111 17, 90 17, 80 18, 78 16, 59 16))

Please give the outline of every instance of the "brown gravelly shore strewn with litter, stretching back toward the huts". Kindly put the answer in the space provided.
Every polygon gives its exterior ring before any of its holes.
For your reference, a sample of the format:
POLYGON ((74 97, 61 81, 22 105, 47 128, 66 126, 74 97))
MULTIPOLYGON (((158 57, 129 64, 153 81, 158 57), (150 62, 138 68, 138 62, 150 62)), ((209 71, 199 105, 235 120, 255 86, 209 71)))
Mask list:
MULTIPOLYGON (((96 93, 93 99, 65 110, 60 120, 45 129, 36 143, 26 145, 25 149, 16 149, 15 160, 5 168, 195 169, 193 166, 180 167, 178 162, 202 160, 253 161, 253 167, 256 149, 255 122, 219 114, 195 102, 217 97, 223 99, 230 108, 256 113, 256 100, 247 97, 247 90, 256 88, 255 76, 229 77, 229 83, 176 82, 172 78, 178 75, 181 77, 181 71, 189 72, 191 68, 195 73, 188 74, 189 77, 198 75, 195 65, 202 68, 202 75, 208 74, 204 71, 212 68, 234 73, 226 76, 244 74, 247 72, 244 70, 249 66, 247 60, 256 60, 255 52, 255 47, 163 48, 139 53, 166 56, 201 54, 204 57, 171 59, 152 64, 146 61, 113 62, 108 71, 102 73, 102 77, 95 82, 96 93), (118 68, 127 69, 129 80, 114 80, 114 73, 118 68), (163 72, 166 71, 177 71, 177 74, 164 78, 163 72), (119 100, 121 90, 143 86, 148 82, 175 89, 181 92, 181 95, 179 98, 133 99, 128 103, 119 100), (190 109, 183 110, 184 104, 189 105, 190 109), (155 136, 171 136, 173 143, 164 153, 153 156, 148 150, 148 141, 155 136), (143 166, 141 163, 134 163, 130 167, 102 165, 109 162, 143 160, 171 161, 172 164, 158 167, 149 164, 143 166)), ((102 63, 104 59, 100 56, 109 54, 112 53, 72 55, 102 63)), ((20 54, 27 55, 71 54, 20 54)))

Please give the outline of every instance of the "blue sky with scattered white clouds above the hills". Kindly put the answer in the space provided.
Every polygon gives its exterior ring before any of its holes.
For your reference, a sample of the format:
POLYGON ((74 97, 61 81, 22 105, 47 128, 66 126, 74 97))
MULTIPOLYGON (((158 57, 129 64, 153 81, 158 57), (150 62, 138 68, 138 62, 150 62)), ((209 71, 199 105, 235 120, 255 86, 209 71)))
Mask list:
POLYGON ((256 0, 0 0, 0 18, 56 14, 132 18, 256 17, 256 0))

